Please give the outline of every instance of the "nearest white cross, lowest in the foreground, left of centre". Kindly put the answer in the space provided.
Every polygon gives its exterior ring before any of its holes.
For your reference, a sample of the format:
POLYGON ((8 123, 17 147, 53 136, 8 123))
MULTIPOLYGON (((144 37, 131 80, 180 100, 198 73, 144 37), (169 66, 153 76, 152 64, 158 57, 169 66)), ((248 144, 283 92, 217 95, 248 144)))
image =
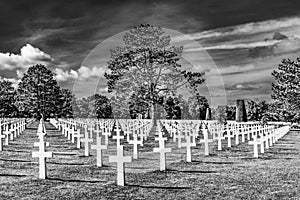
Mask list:
POLYGON ((117 163, 117 184, 125 185, 125 166, 127 162, 132 162, 132 157, 124 156, 123 146, 117 147, 117 156, 109 156, 109 162, 117 163))

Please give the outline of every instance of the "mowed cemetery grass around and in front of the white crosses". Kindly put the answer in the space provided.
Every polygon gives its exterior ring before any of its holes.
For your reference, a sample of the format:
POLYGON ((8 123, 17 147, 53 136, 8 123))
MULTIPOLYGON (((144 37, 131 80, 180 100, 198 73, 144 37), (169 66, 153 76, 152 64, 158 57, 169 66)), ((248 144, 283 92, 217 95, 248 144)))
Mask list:
MULTIPOLYGON (((167 147, 167 171, 159 171, 158 146, 150 136, 139 147, 139 159, 126 163, 126 186, 116 185, 116 164, 108 155, 116 154, 116 143, 110 139, 104 150, 104 166, 96 166, 96 152, 84 157, 84 150, 68 141, 49 123, 46 124, 50 143, 47 151, 48 179, 38 179, 38 123, 0 152, 0 199, 300 199, 300 137, 290 132, 266 153, 253 159, 253 146, 243 143, 217 151, 210 145, 210 156, 197 141, 193 147, 193 162, 185 162, 185 148, 177 148, 171 139, 167 147)), ((94 142, 95 143, 95 142, 94 142)), ((125 155, 132 155, 132 145, 125 145, 125 155)))

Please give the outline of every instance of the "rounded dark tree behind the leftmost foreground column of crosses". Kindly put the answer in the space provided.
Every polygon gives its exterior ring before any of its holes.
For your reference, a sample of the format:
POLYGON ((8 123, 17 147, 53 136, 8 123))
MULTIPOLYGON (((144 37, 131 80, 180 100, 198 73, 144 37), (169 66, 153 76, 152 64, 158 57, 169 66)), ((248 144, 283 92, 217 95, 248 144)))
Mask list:
POLYGON ((54 117, 59 109, 60 87, 43 65, 30 67, 18 84, 18 105, 35 118, 54 117))

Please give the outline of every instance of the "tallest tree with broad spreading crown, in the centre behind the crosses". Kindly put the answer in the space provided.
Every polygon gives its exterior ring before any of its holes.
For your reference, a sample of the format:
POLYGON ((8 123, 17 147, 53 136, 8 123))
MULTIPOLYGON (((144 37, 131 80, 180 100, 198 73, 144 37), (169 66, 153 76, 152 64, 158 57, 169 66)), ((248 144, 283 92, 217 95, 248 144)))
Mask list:
POLYGON ((124 47, 111 50, 105 73, 108 91, 128 101, 143 90, 140 98, 151 108, 152 119, 161 97, 172 96, 184 86, 194 91, 204 82, 203 73, 181 70, 183 48, 171 46, 162 28, 141 25, 127 32, 123 41, 124 47))

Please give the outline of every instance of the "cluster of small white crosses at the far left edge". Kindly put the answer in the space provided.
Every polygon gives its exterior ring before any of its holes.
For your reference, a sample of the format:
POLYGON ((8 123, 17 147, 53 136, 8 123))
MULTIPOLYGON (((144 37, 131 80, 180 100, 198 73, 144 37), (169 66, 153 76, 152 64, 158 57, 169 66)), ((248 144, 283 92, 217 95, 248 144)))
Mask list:
POLYGON ((0 151, 9 141, 14 140, 25 130, 25 119, 5 119, 0 121, 0 151), (4 143, 3 143, 4 141, 4 143))

